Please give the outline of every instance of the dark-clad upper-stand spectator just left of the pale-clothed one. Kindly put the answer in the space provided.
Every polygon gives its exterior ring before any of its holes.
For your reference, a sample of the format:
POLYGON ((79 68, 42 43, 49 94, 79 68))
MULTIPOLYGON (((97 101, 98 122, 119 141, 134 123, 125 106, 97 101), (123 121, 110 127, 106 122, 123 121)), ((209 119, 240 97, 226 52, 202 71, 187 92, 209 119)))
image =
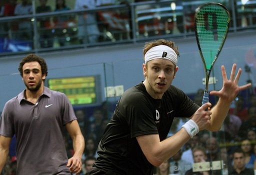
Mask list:
MULTIPOLYGON (((70 8, 66 6, 65 0, 55 0, 55 10, 54 11, 65 11, 69 10, 70 8)), ((54 23, 55 23, 55 35, 57 36, 58 43, 60 46, 65 45, 65 32, 63 32, 63 29, 65 29, 66 22, 70 18, 67 16, 69 14, 60 14, 54 17, 54 23)))

